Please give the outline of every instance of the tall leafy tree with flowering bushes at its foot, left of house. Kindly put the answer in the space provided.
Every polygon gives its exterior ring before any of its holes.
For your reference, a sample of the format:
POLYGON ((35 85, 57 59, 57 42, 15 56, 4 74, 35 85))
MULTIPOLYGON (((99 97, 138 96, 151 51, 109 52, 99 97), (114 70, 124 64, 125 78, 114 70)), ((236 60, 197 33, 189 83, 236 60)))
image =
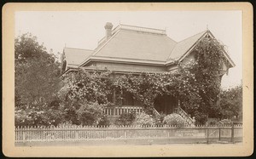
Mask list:
POLYGON ((49 125, 58 116, 59 63, 37 37, 26 33, 15 38, 15 124, 49 125), (56 117, 55 117, 56 116, 56 117))

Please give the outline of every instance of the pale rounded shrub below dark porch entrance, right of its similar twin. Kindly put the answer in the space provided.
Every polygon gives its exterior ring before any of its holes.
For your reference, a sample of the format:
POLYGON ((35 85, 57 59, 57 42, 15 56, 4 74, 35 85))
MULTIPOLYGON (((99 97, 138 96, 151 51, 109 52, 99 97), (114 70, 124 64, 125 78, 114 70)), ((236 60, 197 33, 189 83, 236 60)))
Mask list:
POLYGON ((182 116, 178 115, 177 113, 172 113, 164 118, 164 123, 168 125, 175 125, 177 127, 183 127, 186 124, 186 121, 183 119, 182 116))

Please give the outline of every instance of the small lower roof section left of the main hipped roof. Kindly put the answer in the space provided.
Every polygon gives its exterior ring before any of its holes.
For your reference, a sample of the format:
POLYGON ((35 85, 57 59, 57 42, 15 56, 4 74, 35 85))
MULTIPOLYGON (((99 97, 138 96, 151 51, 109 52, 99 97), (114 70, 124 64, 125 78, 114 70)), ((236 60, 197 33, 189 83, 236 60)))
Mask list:
POLYGON ((67 66, 79 65, 83 60, 93 53, 93 50, 80 48, 64 48, 64 59, 67 61, 67 66))

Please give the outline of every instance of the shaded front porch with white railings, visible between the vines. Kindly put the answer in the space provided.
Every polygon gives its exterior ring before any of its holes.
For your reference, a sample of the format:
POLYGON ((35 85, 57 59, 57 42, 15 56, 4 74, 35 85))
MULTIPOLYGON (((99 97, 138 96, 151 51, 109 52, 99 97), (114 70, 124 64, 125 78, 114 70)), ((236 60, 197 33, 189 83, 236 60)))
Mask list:
MULTIPOLYGON (((137 113, 143 112, 141 101, 134 98, 133 94, 121 91, 121 97, 116 97, 116 91, 113 90, 113 105, 104 108, 104 114, 108 116, 110 121, 114 122, 119 116, 124 113, 135 111, 137 113)), ((183 117, 187 125, 195 125, 195 118, 189 116, 180 106, 180 101, 173 95, 158 95, 154 99, 154 113, 160 115, 163 113, 169 115, 177 113, 183 117)))

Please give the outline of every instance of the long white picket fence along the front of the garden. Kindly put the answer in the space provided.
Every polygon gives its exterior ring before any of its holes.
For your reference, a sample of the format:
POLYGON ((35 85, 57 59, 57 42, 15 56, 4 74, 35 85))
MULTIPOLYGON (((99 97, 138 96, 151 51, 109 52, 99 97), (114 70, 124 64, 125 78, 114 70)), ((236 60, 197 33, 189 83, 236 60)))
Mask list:
POLYGON ((160 138, 236 138, 242 137, 241 125, 195 126, 76 126, 18 127, 15 143, 49 141, 83 141, 90 139, 160 139, 160 138))

